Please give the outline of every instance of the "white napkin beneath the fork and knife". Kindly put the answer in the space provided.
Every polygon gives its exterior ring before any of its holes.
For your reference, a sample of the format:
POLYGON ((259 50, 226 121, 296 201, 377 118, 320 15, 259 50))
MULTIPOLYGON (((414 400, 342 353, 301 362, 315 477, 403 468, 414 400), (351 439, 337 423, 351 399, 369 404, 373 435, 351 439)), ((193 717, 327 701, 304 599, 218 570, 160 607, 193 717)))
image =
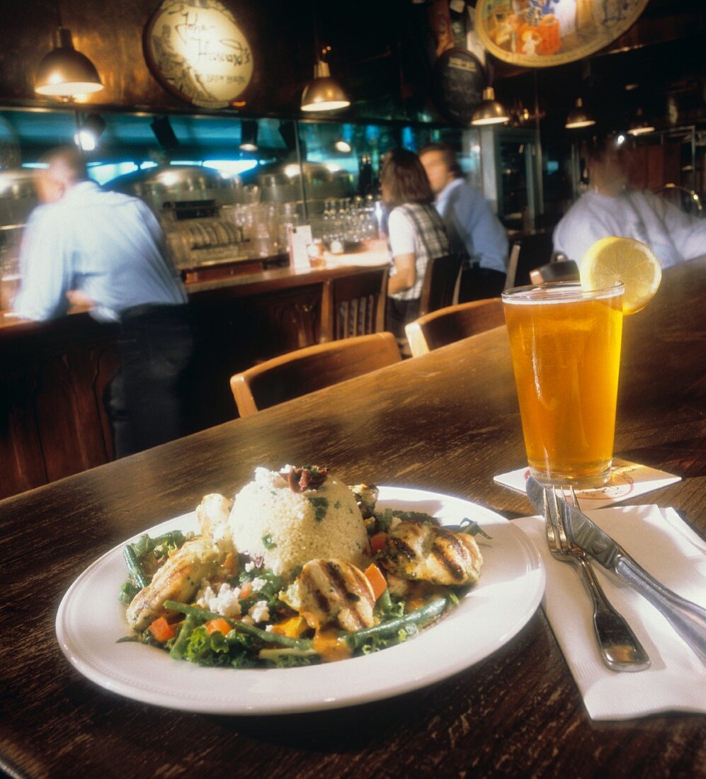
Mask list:
MULTIPOLYGON (((674 509, 621 506, 587 513, 658 581, 706 607, 706 542, 674 509)), ((651 660, 644 671, 610 671, 598 654, 591 598, 581 571, 549 554, 541 517, 527 516, 514 523, 542 555, 546 568, 542 608, 591 719, 624 720, 663 711, 706 713, 706 667, 654 606, 594 563, 606 596, 651 660)))

